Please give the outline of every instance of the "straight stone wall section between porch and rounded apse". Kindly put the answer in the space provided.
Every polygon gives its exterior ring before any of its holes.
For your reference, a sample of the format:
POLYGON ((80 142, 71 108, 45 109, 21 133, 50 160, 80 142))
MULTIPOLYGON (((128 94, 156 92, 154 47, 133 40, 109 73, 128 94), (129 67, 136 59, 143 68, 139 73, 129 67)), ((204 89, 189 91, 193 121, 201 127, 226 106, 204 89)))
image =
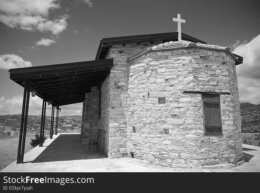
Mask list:
POLYGON ((129 65, 127 59, 146 51, 147 47, 157 42, 144 42, 140 44, 112 45, 108 51, 108 58, 114 58, 110 78, 110 121, 109 121, 109 152, 108 157, 126 156, 126 112, 127 92, 129 80, 129 65), (151 44, 152 43, 152 44, 151 44))

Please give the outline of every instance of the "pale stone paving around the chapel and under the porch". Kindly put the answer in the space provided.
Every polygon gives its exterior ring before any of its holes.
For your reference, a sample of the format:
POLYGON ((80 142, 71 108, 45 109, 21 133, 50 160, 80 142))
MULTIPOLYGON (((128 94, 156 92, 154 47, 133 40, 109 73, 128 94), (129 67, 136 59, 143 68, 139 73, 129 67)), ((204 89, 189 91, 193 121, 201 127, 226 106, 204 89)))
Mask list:
POLYGON ((178 169, 160 167, 134 158, 108 159, 87 154, 80 134, 58 134, 44 147, 27 152, 23 164, 16 161, 1 172, 260 172, 260 147, 243 144, 245 163, 230 169, 178 169))

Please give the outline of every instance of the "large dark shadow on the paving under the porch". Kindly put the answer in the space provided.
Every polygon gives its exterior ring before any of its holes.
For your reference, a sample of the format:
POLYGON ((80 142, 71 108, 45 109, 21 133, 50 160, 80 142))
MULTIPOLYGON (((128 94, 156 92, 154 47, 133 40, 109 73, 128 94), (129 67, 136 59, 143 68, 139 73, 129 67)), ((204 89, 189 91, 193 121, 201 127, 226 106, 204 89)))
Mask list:
POLYGON ((81 145, 80 134, 61 134, 31 163, 87 160, 105 158, 102 153, 87 152, 87 147, 81 145))

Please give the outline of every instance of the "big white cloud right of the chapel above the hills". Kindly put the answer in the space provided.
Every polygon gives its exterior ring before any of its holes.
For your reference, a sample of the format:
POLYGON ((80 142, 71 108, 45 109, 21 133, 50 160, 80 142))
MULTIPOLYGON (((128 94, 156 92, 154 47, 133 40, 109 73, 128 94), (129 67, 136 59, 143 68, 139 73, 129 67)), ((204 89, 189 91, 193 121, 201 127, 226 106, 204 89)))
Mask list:
POLYGON ((240 102, 260 104, 260 34, 237 44, 233 53, 243 57, 243 64, 236 66, 240 102))

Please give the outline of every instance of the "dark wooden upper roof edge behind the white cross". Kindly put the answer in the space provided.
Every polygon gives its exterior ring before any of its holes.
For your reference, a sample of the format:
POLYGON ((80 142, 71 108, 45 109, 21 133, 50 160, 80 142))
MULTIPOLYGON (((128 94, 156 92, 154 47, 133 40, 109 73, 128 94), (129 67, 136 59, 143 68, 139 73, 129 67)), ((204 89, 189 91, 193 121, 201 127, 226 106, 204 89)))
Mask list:
MULTIPOLYGON (((181 33, 182 40, 191 41, 195 43, 207 44, 202 40, 189 36, 185 33, 181 33)), ((131 44, 131 43, 141 43, 141 42, 154 42, 154 41, 178 41, 178 32, 169 32, 169 33, 154 33, 154 34, 145 34, 145 35, 136 35, 136 36, 121 36, 114 38, 103 38, 100 40, 100 44, 98 46, 98 52, 96 54, 95 60, 105 59, 105 56, 108 54, 108 50, 112 45, 119 44, 131 44)), ((238 57, 236 61, 236 65, 243 63, 243 57, 234 54, 235 57, 238 57)))

